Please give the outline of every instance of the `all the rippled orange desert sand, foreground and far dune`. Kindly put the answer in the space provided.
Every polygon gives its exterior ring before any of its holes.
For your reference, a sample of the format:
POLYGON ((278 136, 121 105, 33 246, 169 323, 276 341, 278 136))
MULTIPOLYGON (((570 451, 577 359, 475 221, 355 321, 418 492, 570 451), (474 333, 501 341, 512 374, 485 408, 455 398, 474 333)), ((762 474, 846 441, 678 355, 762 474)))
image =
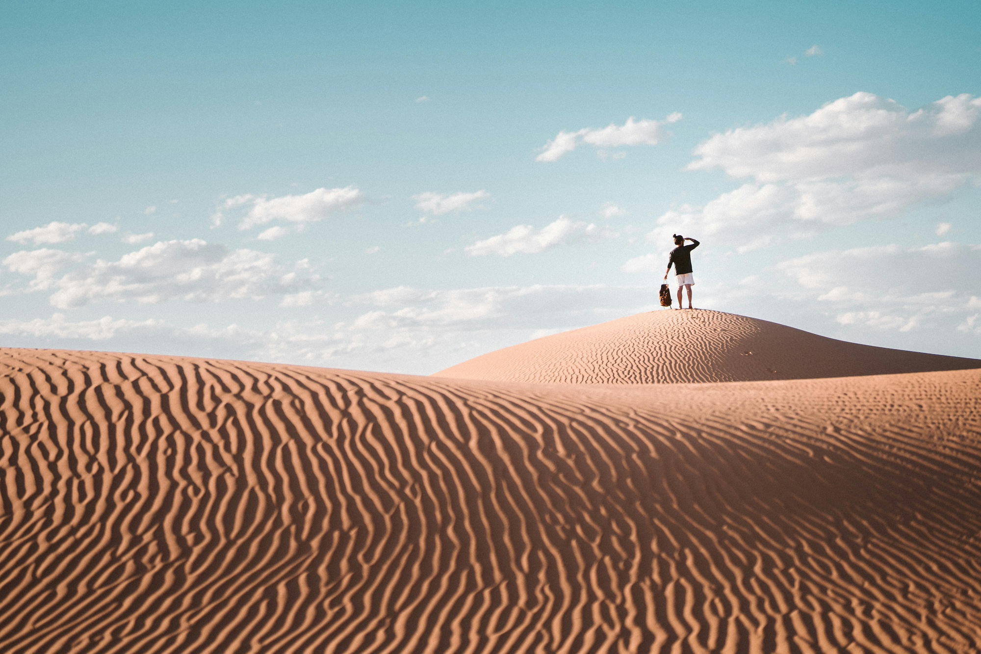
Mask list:
POLYGON ((601 384, 2 349, 0 651, 977 651, 981 361, 683 313, 518 347, 601 384))

